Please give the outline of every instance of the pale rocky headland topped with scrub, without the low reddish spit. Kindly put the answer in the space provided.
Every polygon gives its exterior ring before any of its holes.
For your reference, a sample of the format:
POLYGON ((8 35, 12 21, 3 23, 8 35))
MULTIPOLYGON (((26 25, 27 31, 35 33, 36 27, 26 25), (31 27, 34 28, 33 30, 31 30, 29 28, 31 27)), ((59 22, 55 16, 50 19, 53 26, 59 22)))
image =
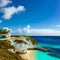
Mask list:
POLYGON ((15 47, 15 50, 27 50, 28 48, 37 47, 35 39, 27 36, 11 37, 11 44, 15 47))

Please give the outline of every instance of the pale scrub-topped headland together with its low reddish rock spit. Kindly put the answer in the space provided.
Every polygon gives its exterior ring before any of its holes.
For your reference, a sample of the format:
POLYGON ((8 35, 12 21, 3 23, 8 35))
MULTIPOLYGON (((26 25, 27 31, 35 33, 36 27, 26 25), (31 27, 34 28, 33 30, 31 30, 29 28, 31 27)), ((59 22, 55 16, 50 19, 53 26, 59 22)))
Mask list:
POLYGON ((27 50, 40 50, 47 52, 48 49, 38 47, 38 43, 35 39, 28 36, 12 36, 11 44, 15 47, 15 52, 26 53, 27 50))

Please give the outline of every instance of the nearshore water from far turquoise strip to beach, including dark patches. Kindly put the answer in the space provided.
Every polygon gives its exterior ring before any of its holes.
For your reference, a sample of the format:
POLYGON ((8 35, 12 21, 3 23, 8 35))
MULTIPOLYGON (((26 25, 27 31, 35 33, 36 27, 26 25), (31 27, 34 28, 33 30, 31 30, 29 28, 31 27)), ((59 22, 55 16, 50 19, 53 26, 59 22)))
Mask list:
POLYGON ((46 47, 51 52, 42 52, 35 50, 33 57, 34 60, 60 60, 60 45, 39 44, 41 47, 46 47), (57 49, 58 48, 58 49, 57 49))

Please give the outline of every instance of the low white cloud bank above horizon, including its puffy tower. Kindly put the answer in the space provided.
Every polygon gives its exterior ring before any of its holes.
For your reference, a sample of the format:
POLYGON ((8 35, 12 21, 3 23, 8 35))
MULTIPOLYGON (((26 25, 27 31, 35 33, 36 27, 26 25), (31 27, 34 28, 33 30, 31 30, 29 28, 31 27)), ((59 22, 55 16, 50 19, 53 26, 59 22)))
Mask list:
POLYGON ((25 28, 20 28, 20 33, 24 35, 33 35, 33 36, 60 36, 60 30, 56 29, 31 29, 30 25, 27 25, 25 28))

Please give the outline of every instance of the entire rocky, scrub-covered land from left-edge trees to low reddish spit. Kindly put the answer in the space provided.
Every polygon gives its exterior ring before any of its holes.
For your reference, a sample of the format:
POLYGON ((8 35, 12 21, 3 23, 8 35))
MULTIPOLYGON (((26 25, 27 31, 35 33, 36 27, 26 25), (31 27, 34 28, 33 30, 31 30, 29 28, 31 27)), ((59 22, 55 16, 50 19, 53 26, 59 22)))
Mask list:
POLYGON ((0 60, 25 60, 24 56, 31 50, 48 51, 38 47, 32 37, 11 35, 9 29, 0 29, 0 60))

